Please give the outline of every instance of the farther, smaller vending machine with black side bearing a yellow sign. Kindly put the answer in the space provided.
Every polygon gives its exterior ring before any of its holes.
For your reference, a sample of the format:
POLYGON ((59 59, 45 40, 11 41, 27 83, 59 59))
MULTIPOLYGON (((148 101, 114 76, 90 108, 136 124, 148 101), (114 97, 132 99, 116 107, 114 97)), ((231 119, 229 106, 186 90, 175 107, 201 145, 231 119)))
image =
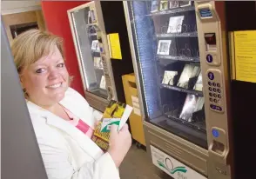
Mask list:
POLYGON ((123 3, 84 3, 68 17, 86 100, 100 111, 111 99, 125 103, 122 75, 133 68, 123 3))

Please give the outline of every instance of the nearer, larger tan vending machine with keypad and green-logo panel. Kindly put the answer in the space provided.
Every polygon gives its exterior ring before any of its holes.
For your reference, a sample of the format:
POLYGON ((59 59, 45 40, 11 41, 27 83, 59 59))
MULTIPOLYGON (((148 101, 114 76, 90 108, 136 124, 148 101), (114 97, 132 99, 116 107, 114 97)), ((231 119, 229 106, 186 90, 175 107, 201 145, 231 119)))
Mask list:
POLYGON ((153 164, 175 179, 231 179, 225 2, 124 4, 153 164))

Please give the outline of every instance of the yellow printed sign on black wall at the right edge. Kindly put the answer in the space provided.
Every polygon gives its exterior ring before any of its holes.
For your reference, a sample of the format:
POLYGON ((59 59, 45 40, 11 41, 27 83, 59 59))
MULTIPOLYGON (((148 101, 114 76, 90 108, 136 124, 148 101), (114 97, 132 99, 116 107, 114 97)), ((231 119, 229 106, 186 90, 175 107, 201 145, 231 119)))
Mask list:
POLYGON ((256 30, 234 32, 235 78, 256 83, 256 30))

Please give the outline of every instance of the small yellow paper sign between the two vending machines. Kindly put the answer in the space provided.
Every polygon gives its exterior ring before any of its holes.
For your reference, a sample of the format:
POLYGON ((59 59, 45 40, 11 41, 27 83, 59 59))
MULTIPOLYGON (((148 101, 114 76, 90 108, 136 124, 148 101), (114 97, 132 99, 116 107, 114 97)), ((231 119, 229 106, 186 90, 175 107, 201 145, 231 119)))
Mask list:
POLYGON ((108 42, 111 58, 122 60, 122 53, 118 33, 109 34, 108 42))

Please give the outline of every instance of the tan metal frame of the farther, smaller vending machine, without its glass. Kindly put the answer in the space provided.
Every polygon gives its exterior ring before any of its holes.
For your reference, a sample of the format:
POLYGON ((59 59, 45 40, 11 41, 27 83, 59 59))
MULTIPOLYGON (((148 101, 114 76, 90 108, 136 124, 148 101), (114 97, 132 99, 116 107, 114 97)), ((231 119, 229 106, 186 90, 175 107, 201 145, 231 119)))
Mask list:
POLYGON ((68 17, 69 17, 69 21, 71 24, 71 33, 73 36, 73 41, 74 41, 75 49, 76 49, 76 53, 77 53, 77 61, 78 61, 78 65, 79 65, 79 70, 80 70, 80 74, 81 74, 83 85, 84 85, 85 98, 88 101, 88 103, 91 105, 91 107, 103 112, 105 107, 108 104, 108 100, 111 100, 111 99, 117 100, 117 90, 116 90, 114 77, 113 77, 113 73, 112 73, 111 57, 109 55, 109 46, 107 43, 108 40, 107 40, 105 28, 104 28, 104 18, 103 18, 103 12, 101 9, 101 3, 99 1, 84 3, 83 5, 80 5, 76 8, 68 10, 68 17), (86 54, 82 53, 82 50, 81 50, 79 42, 78 42, 79 36, 77 36, 77 33, 75 31, 77 27, 73 23, 74 22, 73 13, 77 12, 77 10, 83 10, 84 8, 89 8, 91 11, 94 11, 94 15, 95 15, 95 19, 96 19, 96 22, 91 23, 91 24, 86 24, 86 25, 93 25, 97 29, 96 34, 97 34, 97 38, 98 38, 98 45, 100 48, 100 57, 101 57, 102 63, 103 63, 104 77, 105 77, 106 89, 107 89, 107 94, 108 94, 106 99, 104 97, 97 96, 97 95, 89 92, 89 90, 88 90, 89 85, 86 84, 87 79, 86 79, 85 71, 90 70, 90 69, 86 69, 86 67, 84 65, 83 56, 86 54))

